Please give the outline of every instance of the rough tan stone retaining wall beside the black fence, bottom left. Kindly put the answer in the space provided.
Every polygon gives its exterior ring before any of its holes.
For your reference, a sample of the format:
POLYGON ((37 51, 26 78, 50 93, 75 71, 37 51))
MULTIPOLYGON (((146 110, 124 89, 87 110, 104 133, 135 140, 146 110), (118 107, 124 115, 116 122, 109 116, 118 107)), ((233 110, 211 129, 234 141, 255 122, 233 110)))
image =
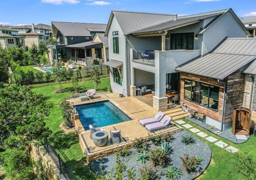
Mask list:
POLYGON ((30 156, 34 160, 34 171, 39 177, 44 177, 47 180, 66 180, 66 178, 60 174, 59 169, 52 161, 52 158, 44 149, 44 146, 35 146, 31 144, 30 156), (38 165, 37 163, 42 163, 38 165))

